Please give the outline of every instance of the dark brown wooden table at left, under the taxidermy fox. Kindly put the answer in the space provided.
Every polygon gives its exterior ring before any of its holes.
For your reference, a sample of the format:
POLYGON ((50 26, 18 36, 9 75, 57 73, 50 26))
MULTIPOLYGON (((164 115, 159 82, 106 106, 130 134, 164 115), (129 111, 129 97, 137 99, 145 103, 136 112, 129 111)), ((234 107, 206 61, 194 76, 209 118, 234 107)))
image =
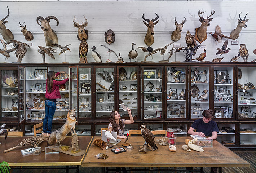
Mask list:
MULTIPOLYGON (((33 155, 28 154, 22 156, 21 150, 24 150, 26 148, 31 148, 31 145, 27 145, 24 147, 16 148, 15 150, 3 153, 4 150, 12 148, 16 146, 19 142, 21 142, 23 139, 27 139, 30 137, 11 137, 8 136, 6 140, 4 140, 4 137, 0 137, 0 142, 2 143, 0 145, 0 162, 6 161, 8 164, 12 167, 17 166, 32 166, 32 167, 39 167, 39 166, 66 166, 65 169, 67 169, 67 172, 69 172, 69 166, 77 166, 76 169, 78 169, 79 172, 79 166, 81 165, 84 156, 71 156, 64 153, 59 154, 47 154, 45 155, 45 152, 41 152, 39 155, 33 155)), ((85 151, 88 150, 89 145, 92 142, 93 137, 92 136, 78 136, 78 145, 80 149, 83 149, 85 151)), ((71 137, 67 136, 64 141, 61 142, 63 145, 72 146, 71 144, 71 137)), ((47 141, 42 142, 39 147, 42 147, 44 150, 45 147, 47 147, 47 141)), ((22 169, 30 169, 30 168, 22 168, 22 169)), ((37 169, 37 168, 31 168, 31 169, 37 169)), ((41 169, 41 168, 39 168, 41 169)), ((52 168, 50 168, 52 169, 52 168)), ((57 168, 60 169, 60 168, 57 168)))

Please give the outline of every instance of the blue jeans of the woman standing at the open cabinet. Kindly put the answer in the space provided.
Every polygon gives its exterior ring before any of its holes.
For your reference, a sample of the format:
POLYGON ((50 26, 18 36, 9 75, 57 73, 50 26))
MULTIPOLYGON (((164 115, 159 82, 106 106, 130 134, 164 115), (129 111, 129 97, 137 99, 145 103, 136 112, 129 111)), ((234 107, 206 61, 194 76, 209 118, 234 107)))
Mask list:
POLYGON ((43 132, 51 134, 52 119, 56 110, 56 102, 46 100, 44 102, 44 105, 45 105, 45 117, 44 117, 44 124, 43 124, 43 132))

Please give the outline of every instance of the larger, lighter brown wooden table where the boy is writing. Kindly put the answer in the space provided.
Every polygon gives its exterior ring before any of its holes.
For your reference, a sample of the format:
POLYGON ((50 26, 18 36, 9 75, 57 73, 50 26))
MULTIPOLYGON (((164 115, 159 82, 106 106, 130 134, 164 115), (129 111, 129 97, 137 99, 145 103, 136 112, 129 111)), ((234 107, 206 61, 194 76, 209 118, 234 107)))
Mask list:
MULTIPOLYGON (((101 137, 94 137, 94 139, 99 138, 101 137)), ((158 138, 162 137, 156 137, 158 138)), ((213 142, 213 147, 204 147, 204 152, 194 150, 187 152, 182 149, 185 139, 192 138, 176 138, 176 152, 170 152, 169 146, 158 145, 158 142, 156 142, 158 150, 138 152, 140 146, 144 144, 144 139, 140 136, 129 137, 127 143, 130 143, 134 149, 119 154, 114 154, 110 149, 101 150, 100 147, 91 144, 82 167, 219 167, 219 173, 221 167, 250 167, 250 163, 216 140, 213 142), (108 155, 109 158, 96 159, 94 155, 100 152, 108 155)), ((122 147, 123 143, 124 139, 113 148, 122 147)))

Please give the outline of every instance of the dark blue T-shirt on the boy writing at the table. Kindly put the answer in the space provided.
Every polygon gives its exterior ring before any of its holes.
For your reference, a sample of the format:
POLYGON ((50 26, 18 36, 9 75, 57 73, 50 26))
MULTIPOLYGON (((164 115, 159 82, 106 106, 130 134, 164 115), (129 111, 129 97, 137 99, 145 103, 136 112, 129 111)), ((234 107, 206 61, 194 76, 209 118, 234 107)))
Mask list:
POLYGON ((212 136, 212 132, 219 132, 219 128, 215 121, 204 123, 202 118, 195 120, 191 127, 197 129, 197 132, 203 132, 205 136, 212 136))

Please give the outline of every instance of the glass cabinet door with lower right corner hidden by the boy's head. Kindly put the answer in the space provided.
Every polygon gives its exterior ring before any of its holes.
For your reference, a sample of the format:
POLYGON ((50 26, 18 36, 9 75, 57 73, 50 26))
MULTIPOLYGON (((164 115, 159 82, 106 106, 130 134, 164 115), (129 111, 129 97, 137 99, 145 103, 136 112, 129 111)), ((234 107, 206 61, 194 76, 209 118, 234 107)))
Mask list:
POLYGON ((190 67, 190 115, 191 119, 202 118, 209 109, 209 67, 190 67))

